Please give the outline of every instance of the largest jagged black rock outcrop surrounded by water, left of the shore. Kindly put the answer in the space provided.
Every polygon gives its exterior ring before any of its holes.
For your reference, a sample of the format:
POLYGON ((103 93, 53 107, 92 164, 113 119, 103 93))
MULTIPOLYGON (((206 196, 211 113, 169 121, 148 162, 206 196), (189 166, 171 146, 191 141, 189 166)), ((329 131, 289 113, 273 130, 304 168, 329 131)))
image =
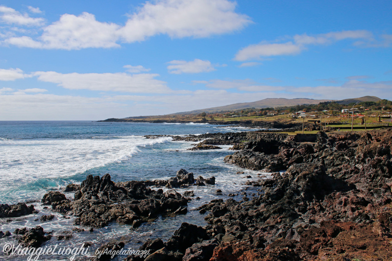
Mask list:
MULTIPOLYGON (((180 170, 175 185, 195 183, 192 173, 180 170)), ((128 181, 114 183, 110 175, 87 176, 74 195, 66 199, 60 192, 50 191, 43 202, 51 204, 54 211, 77 216, 74 223, 88 227, 105 227, 116 221, 139 226, 160 214, 185 214, 188 199, 174 190, 151 190, 147 182, 128 181)), ((173 184, 167 183, 167 184, 173 184)), ((175 187, 173 185, 173 187, 175 187)))

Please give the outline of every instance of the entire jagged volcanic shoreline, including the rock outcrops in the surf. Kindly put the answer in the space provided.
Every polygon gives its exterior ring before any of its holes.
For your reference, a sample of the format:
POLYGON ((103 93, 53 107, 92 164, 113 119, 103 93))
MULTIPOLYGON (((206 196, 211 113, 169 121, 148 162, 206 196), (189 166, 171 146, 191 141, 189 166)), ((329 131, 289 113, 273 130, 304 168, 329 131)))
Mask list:
MULTIPOLYGON (((236 151, 225 157, 226 163, 274 172, 273 178, 247 182, 256 192, 244 193, 240 201, 218 199, 200 206, 206 227, 183 223, 166 242, 159 238, 146 241, 140 250, 148 251, 147 257, 129 256, 126 260, 390 260, 391 130, 296 136, 243 132, 172 138, 199 142, 195 149, 231 145, 236 151)), ((114 183, 106 174, 88 176, 80 186, 68 186, 66 191, 75 192, 73 200, 51 191, 42 203, 51 205, 54 212, 77 216, 75 225, 99 228, 115 221, 137 227, 157 215, 186 214, 193 192, 181 195, 176 188, 213 184, 214 177, 195 178, 183 169, 164 181, 114 183)), ((0 206, 1 217, 34 211, 34 207, 21 203, 0 206)), ((2 234, 10 236, 9 232, 2 234)), ((39 227, 21 228, 14 234, 31 246, 50 238, 39 227)), ((125 243, 113 241, 102 247, 121 249, 125 243)))

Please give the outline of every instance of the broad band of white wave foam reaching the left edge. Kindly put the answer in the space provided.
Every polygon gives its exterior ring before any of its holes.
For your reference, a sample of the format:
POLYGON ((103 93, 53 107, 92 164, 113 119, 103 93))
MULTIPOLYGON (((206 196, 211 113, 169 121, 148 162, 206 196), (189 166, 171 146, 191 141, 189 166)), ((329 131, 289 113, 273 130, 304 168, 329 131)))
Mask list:
POLYGON ((141 136, 115 139, 2 140, 0 191, 39 179, 72 176, 88 169, 128 160, 142 147, 172 138, 141 136))

